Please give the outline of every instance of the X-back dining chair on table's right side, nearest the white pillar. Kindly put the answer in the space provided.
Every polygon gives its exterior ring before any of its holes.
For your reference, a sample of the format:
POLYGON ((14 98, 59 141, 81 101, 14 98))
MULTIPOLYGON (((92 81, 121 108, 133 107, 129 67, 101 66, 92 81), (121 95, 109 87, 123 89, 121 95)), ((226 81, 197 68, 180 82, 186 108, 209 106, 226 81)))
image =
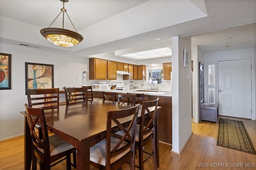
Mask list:
MULTIPOLYGON (((158 99, 153 101, 144 101, 142 103, 142 110, 140 115, 140 121, 138 121, 138 125, 136 126, 136 136, 135 136, 135 146, 139 152, 139 166, 135 165, 136 168, 140 170, 144 169, 144 163, 153 156, 153 165, 154 170, 157 170, 157 162, 156 162, 156 111, 158 105, 158 99), (154 111, 150 112, 150 109, 154 108, 154 111), (147 118, 145 117, 145 113, 148 113, 147 118), (145 119, 146 118, 146 119, 145 119), (151 153, 144 150, 144 146, 151 143, 151 153), (143 153, 148 154, 148 156, 144 159, 143 153)), ((122 137, 122 131, 118 131, 114 134, 114 136, 122 137)))

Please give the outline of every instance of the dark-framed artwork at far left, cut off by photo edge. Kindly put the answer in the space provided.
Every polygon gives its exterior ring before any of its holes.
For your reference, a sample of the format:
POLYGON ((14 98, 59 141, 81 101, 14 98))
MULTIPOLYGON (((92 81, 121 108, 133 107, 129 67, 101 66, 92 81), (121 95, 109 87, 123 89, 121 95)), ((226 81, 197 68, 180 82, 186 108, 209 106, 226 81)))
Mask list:
POLYGON ((11 54, 0 53, 0 90, 11 89, 11 54))

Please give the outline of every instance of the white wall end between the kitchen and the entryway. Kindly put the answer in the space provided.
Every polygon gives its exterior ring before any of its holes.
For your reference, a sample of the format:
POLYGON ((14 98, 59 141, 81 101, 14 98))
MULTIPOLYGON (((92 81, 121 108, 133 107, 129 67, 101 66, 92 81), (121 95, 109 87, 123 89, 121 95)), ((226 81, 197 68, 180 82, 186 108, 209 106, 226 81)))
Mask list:
POLYGON ((183 67, 183 49, 191 56, 191 38, 172 37, 172 152, 178 154, 192 134, 191 66, 183 67))

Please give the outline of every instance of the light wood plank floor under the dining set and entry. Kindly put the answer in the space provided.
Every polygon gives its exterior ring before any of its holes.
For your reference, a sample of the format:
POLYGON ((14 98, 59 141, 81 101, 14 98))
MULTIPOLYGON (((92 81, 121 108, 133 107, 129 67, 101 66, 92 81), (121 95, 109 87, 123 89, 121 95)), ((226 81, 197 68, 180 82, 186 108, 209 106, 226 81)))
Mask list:
MULTIPOLYGON (((230 118, 229 119, 234 119, 230 118)), ((244 122, 244 126, 256 147, 256 122, 248 119, 238 119, 244 122)), ((216 146, 218 135, 218 124, 214 122, 202 121, 202 123, 192 123, 194 132, 184 147, 181 155, 170 152, 172 146, 160 143, 160 167, 159 170, 225 170, 225 169, 256 169, 256 155, 249 154, 233 149, 216 146), (199 167, 200 164, 209 166, 208 168, 199 167), (208 164, 209 165, 208 165, 208 164), (215 163, 215 164, 214 164, 215 163), (217 165, 224 167, 216 167, 217 165), (250 163, 250 168, 246 164, 250 163), (228 164, 229 168, 226 168, 228 164), (244 167, 235 167, 243 165, 244 167)), ((150 145, 146 147, 146 150, 150 145)), ((66 169, 66 163, 63 162, 52 167, 52 170, 66 169)), ((152 158, 146 162, 145 170, 153 169, 152 158)), ((15 138, 0 142, 0 169, 1 170, 23 170, 24 169, 24 139, 15 138)), ((91 169, 95 168, 91 166, 91 169)), ((129 166, 124 165, 123 170, 128 170, 129 166)))

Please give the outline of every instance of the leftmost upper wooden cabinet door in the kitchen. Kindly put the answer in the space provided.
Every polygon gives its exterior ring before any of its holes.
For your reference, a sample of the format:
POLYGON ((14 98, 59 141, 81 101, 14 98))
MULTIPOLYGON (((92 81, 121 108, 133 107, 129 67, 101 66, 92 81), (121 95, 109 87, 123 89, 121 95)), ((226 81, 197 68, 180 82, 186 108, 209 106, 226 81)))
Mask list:
POLYGON ((95 79, 107 79, 107 61, 104 59, 95 59, 94 77, 95 79))

